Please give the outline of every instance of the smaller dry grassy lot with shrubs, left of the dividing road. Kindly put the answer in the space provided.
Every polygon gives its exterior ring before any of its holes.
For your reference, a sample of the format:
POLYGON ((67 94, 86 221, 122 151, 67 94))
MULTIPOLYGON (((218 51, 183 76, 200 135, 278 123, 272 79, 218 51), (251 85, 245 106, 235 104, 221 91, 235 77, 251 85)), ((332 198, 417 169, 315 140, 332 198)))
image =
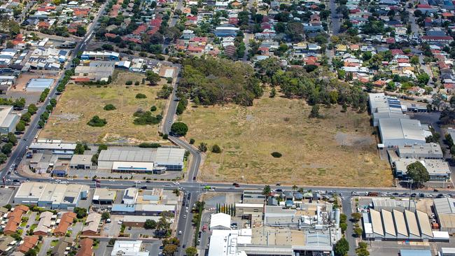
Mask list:
POLYGON ((62 138, 65 141, 139 143, 159 141, 158 125, 134 125, 133 113, 139 108, 149 111, 151 106, 160 114, 165 100, 156 99, 162 87, 158 85, 134 85, 142 82, 145 76, 139 73, 120 72, 113 83, 106 87, 68 85, 52 111, 48 123, 39 135, 40 138, 62 138), (133 85, 125 85, 132 80, 133 85), (136 99, 136 94, 146 94, 146 99, 136 99), (104 111, 106 104, 116 106, 114 111, 104 111), (87 122, 99 115, 108 122, 104 127, 90 127, 87 122))

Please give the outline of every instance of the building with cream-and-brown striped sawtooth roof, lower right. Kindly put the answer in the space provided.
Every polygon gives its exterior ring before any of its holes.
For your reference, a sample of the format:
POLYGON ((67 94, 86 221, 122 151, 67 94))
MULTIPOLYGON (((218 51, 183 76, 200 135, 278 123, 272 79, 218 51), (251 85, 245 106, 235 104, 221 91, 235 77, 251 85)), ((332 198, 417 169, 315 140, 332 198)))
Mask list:
POLYGON ((422 211, 376 211, 363 213, 365 239, 376 241, 449 241, 447 232, 431 229, 428 215, 422 211))

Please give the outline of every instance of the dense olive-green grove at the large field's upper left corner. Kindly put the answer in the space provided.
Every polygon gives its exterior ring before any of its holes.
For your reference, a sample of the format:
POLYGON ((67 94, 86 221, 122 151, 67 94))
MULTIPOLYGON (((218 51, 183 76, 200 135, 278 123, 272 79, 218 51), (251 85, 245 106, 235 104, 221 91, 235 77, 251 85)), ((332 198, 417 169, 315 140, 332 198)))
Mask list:
POLYGON ((263 89, 248 64, 212 57, 183 60, 183 78, 179 91, 195 104, 212 105, 233 102, 251 106, 263 89))

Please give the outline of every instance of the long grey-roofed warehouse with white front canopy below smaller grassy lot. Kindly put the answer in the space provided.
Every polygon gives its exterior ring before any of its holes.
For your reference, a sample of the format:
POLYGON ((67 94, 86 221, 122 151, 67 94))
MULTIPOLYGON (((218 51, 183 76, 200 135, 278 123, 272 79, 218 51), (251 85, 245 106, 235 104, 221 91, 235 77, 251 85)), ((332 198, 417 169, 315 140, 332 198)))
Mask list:
POLYGON ((109 148, 98 157, 98 169, 125 173, 181 171, 185 150, 181 148, 109 148))

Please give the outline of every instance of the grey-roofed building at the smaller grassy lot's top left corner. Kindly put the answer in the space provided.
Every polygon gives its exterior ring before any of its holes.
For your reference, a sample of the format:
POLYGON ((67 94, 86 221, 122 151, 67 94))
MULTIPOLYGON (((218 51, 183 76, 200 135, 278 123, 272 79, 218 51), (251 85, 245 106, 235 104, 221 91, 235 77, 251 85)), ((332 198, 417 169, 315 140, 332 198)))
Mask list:
POLYGON ((112 77, 116 68, 116 62, 92 61, 88 66, 76 66, 74 76, 71 77, 77 82, 107 81, 112 77))

